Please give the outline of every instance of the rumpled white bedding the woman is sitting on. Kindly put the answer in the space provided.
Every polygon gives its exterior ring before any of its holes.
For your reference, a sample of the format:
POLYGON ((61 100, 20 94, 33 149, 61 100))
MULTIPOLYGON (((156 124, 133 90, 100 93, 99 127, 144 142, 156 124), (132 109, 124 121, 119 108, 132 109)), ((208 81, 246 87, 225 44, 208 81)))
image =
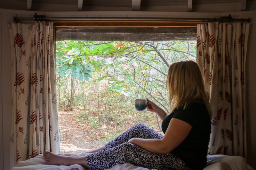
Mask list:
MULTIPOLYGON (((61 155, 81 156, 78 154, 61 154, 61 155)), ((12 167, 11 170, 71 170, 71 169, 84 170, 84 168, 80 165, 71 165, 71 166, 47 165, 44 163, 43 154, 40 154, 35 158, 30 158, 25 161, 20 161, 15 167, 12 167)), ((122 165, 116 165, 108 170, 149 170, 149 169, 126 163, 122 165)), ((204 170, 254 170, 254 169, 252 168, 252 166, 248 165, 245 159, 241 156, 208 155, 207 166, 204 168, 204 170)))

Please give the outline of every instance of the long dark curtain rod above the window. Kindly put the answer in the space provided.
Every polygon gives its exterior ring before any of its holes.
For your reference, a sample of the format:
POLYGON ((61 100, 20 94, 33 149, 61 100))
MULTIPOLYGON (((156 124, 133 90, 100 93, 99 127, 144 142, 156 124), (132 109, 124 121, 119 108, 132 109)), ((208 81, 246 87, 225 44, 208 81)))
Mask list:
POLYGON ((20 22, 21 20, 35 20, 35 21, 65 21, 65 20, 133 20, 133 21, 145 21, 145 20, 155 20, 155 21, 202 21, 202 22, 250 22, 250 18, 247 19, 239 19, 232 18, 231 15, 228 17, 220 17, 220 18, 137 18, 137 17, 116 17, 116 18, 98 18, 98 17, 49 17, 46 18, 44 15, 37 15, 35 13, 33 18, 17 18, 14 17, 15 22, 20 22))

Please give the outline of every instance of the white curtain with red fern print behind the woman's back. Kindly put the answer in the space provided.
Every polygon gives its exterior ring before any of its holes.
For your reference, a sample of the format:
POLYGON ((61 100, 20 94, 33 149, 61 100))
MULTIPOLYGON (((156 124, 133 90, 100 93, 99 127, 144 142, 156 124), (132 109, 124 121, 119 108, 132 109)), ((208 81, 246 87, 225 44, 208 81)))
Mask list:
POLYGON ((197 25, 197 59, 212 106, 208 154, 246 156, 245 59, 249 23, 197 25))

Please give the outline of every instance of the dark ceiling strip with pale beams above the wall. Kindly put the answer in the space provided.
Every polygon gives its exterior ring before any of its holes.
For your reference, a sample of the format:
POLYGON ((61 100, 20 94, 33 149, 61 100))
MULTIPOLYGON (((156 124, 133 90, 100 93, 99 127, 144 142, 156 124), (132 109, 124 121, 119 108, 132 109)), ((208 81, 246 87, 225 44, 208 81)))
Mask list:
MULTIPOLYGON (((207 4, 215 4, 215 6, 216 4, 220 6, 237 4, 240 11, 256 9, 256 0, 0 0, 0 8, 20 9, 18 5, 24 6, 24 4, 26 5, 24 10, 34 11, 38 4, 44 7, 47 5, 50 7, 51 4, 72 5, 76 6, 76 11, 103 11, 110 7, 112 11, 154 11, 156 9, 161 11, 161 7, 164 6, 185 6, 185 11, 191 12, 194 11, 193 7, 207 4)), ((72 9, 72 11, 75 10, 72 9)))

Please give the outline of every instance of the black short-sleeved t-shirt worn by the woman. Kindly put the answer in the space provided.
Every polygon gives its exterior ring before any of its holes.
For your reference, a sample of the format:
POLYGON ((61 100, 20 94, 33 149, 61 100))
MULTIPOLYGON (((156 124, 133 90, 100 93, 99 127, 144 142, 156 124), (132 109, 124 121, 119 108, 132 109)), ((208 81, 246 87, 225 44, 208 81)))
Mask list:
POLYGON ((191 169, 203 169, 206 166, 211 134, 211 118, 205 104, 195 102, 190 103, 185 110, 183 110, 183 107, 174 110, 162 122, 164 133, 172 118, 187 122, 192 126, 192 129, 187 138, 171 153, 182 159, 191 169))

